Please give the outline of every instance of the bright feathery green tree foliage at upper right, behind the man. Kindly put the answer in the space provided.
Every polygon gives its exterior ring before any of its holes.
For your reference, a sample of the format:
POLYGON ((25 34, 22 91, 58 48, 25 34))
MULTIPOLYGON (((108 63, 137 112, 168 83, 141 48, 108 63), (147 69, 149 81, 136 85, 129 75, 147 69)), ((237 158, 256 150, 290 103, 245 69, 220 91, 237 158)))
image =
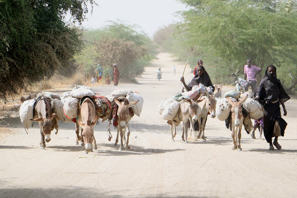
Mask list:
POLYGON ((288 68, 295 67, 297 59, 297 11, 291 7, 288 14, 287 1, 181 2, 190 7, 181 13, 184 22, 179 24, 187 37, 185 45, 203 52, 216 76, 226 80, 231 72, 243 74, 243 65, 251 58, 261 68, 274 64, 281 68, 279 76, 289 77, 288 68))

